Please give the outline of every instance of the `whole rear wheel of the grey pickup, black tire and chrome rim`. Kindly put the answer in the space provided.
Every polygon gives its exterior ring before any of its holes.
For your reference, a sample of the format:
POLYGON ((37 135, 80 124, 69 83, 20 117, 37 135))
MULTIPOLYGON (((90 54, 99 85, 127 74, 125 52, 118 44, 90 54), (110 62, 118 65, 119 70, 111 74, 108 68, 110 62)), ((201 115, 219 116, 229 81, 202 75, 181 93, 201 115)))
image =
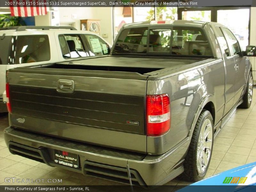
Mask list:
POLYGON ((212 157, 213 118, 209 111, 202 110, 184 161, 184 172, 181 177, 188 181, 204 178, 212 157))

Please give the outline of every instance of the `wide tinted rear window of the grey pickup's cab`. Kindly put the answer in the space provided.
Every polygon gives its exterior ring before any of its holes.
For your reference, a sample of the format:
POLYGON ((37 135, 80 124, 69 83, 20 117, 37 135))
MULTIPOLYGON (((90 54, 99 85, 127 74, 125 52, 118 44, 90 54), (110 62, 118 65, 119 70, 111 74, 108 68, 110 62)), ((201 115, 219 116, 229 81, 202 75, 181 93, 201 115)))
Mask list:
POLYGON ((150 29, 149 33, 148 28, 124 29, 114 47, 115 53, 212 56, 203 31, 188 27, 150 29))

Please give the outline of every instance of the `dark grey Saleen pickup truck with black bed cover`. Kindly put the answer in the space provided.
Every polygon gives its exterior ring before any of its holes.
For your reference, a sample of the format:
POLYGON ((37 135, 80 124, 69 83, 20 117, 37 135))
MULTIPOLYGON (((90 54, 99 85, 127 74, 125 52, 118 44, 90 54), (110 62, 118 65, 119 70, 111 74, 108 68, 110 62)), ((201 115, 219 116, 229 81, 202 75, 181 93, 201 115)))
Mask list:
POLYGON ((202 179, 253 90, 234 34, 184 20, 124 25, 110 55, 10 69, 6 82, 12 154, 144 186, 202 179))

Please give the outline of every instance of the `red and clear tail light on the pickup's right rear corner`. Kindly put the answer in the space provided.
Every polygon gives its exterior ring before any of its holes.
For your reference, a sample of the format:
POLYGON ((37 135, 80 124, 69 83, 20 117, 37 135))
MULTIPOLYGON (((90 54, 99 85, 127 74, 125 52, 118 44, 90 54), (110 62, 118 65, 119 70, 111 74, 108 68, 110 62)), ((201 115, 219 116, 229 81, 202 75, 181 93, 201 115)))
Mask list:
POLYGON ((171 107, 168 95, 147 95, 146 116, 148 136, 160 136, 168 132, 171 125, 171 107))

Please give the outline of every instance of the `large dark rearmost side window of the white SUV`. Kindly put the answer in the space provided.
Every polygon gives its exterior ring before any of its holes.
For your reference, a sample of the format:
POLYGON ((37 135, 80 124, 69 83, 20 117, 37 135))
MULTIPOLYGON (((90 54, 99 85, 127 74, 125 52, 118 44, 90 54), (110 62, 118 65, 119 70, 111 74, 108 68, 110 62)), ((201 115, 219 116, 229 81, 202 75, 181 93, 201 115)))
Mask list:
POLYGON ((51 58, 47 35, 17 36, 14 63, 48 61, 51 58))

